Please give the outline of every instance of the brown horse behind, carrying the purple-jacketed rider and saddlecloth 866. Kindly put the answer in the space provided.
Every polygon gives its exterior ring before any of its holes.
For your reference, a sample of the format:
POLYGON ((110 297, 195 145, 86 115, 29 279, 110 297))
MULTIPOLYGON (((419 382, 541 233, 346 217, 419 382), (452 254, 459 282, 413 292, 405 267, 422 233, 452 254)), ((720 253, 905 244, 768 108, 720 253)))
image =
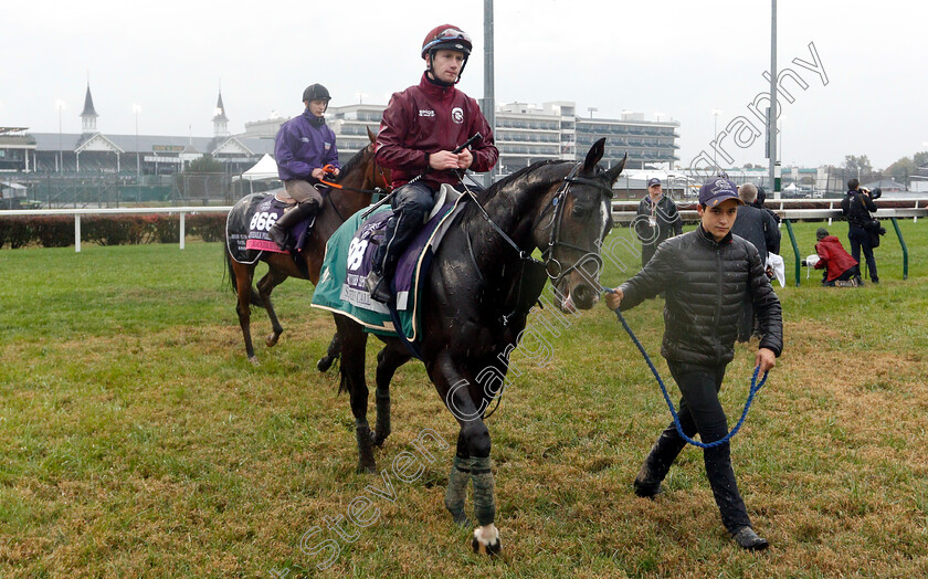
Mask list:
MULTIPOLYGON (((370 145, 359 150, 345 164, 338 179, 335 181, 341 189, 331 189, 325 197, 321 210, 316 214, 316 223, 313 225, 306 249, 303 251, 305 271, 294 263, 293 257, 286 253, 263 252, 262 262, 267 264, 267 273, 257 282, 257 291, 252 287, 254 271, 257 262, 253 264, 239 263, 229 253, 226 240, 225 261, 229 274, 239 301, 235 312, 239 314, 239 325, 242 326, 242 335, 245 339, 245 351, 249 361, 257 364, 254 355, 254 347, 251 338, 251 306, 263 307, 271 318, 272 331, 264 338, 264 344, 272 347, 277 344, 284 328, 277 320, 277 314, 271 303, 271 292, 281 285, 287 277, 309 280, 313 285, 319 281, 319 269, 326 252, 326 242, 335 233, 335 230, 357 211, 368 207, 371 201, 375 188, 387 189, 390 185, 390 170, 378 165, 373 158, 375 135, 368 129, 370 145)), ((239 203, 244 202, 240 200, 239 203)), ((236 203, 238 207, 238 203, 236 203)), ((228 235, 228 232, 226 232, 228 235)), ((338 356, 339 340, 336 334, 329 345, 326 357, 319 361, 319 370, 325 371, 331 361, 338 356)))

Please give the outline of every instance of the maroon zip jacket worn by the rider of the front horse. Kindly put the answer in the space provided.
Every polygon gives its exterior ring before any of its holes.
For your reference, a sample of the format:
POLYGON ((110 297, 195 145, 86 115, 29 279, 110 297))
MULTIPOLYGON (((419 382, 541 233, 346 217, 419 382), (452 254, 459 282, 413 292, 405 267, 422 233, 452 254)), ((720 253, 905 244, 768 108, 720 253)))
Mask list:
POLYGON ((418 86, 393 93, 383 110, 377 135, 377 162, 392 170, 394 189, 426 169, 422 180, 433 189, 442 183, 457 185, 455 171, 429 169, 426 154, 454 150, 475 133, 483 138, 471 146, 474 162, 470 169, 485 172, 496 165, 499 151, 477 102, 454 86, 430 83, 423 73, 418 86))

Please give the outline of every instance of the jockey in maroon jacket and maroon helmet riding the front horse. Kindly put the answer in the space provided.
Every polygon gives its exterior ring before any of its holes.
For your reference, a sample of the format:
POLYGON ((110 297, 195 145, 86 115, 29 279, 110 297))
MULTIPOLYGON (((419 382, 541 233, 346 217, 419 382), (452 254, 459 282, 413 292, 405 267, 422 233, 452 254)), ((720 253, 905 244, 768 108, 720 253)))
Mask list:
POLYGON ((383 110, 377 135, 377 162, 392 170, 393 215, 377 246, 366 280, 371 297, 390 299, 390 278, 397 261, 421 229, 443 183, 458 185, 461 173, 485 172, 499 151, 477 102, 455 87, 473 44, 457 27, 432 29, 422 43, 426 70, 418 85, 394 93, 383 110), (479 133, 471 149, 453 150, 479 133))

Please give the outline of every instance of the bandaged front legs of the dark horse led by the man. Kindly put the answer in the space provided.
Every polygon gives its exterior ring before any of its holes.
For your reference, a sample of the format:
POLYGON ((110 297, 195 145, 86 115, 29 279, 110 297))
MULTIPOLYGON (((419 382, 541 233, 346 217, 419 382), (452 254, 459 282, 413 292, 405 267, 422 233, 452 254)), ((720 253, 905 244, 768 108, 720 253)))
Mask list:
POLYGON ((496 519, 496 495, 491 470, 489 430, 483 421, 488 399, 473 379, 466 378, 450 360, 439 364, 435 378, 439 393, 457 419, 461 430, 457 435, 457 453, 449 476, 445 506, 455 523, 466 522, 464 495, 467 475, 474 485, 474 517, 479 525, 474 529, 471 546, 475 552, 498 555, 502 551, 496 519), (474 400, 477 400, 477 403, 474 400), (479 404, 479 407, 477 406, 479 404))

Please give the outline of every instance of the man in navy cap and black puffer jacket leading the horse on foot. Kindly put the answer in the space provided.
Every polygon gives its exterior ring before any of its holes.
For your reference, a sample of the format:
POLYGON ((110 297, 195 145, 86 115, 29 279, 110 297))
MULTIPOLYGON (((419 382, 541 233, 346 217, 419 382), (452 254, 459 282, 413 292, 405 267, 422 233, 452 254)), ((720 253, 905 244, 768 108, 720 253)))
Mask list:
MULTIPOLYGON (((699 189, 699 227, 662 243, 641 272, 605 296, 610 308, 624 310, 666 293, 661 354, 683 394, 678 413, 683 431, 687 436, 698 433, 705 443, 728 433, 718 391, 726 366, 735 357, 738 319, 747 296, 763 333, 755 357, 761 375, 773 368, 783 349, 780 299, 757 249, 730 231, 742 204, 735 183, 724 177, 710 179, 699 189)), ((655 497, 684 446, 686 441, 671 422, 635 477, 635 494, 655 497)), ((740 547, 767 548, 767 539, 751 527, 738 492, 729 444, 706 449, 704 461, 723 525, 740 547)))

